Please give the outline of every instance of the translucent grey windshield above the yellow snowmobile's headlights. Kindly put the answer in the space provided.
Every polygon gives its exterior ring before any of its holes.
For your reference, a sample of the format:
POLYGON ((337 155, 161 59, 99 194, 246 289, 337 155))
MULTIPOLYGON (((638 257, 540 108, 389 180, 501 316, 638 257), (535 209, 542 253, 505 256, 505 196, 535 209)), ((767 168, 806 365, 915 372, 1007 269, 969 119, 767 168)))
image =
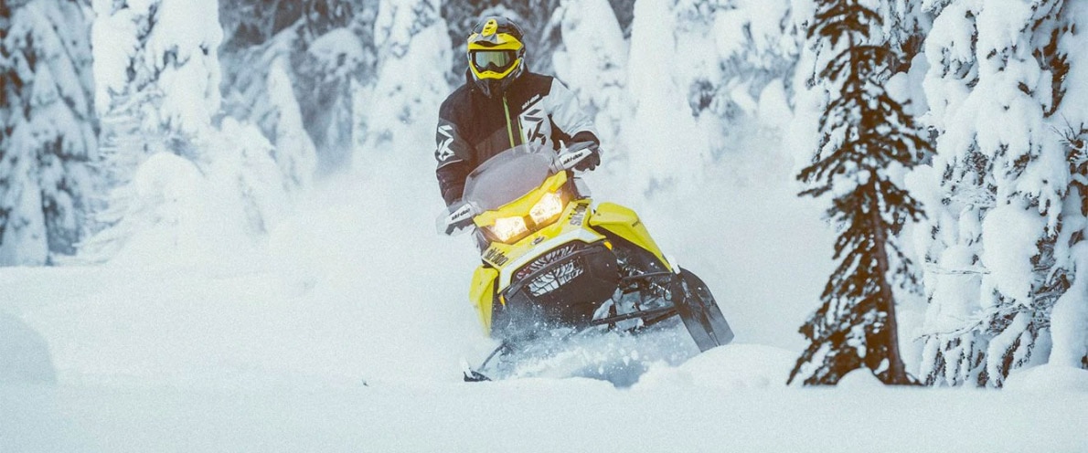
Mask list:
POLYGON ((465 200, 492 211, 540 187, 553 175, 555 151, 540 143, 510 148, 489 159, 465 180, 465 200))

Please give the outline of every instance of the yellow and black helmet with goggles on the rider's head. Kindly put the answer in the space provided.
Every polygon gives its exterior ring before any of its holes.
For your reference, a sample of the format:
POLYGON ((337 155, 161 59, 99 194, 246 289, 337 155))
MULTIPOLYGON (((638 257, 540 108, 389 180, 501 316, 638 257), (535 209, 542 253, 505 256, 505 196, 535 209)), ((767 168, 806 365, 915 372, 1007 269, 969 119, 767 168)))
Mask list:
POLYGON ((487 97, 500 93, 524 72, 526 46, 521 27, 506 17, 484 17, 469 35, 472 80, 487 97))

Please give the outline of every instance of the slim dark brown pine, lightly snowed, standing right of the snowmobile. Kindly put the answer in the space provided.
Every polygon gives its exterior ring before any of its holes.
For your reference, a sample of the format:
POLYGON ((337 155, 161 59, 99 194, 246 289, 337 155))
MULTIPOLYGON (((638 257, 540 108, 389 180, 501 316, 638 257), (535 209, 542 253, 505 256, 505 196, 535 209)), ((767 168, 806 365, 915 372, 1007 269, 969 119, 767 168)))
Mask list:
POLYGON ((927 147, 914 119, 885 91, 894 56, 880 15, 858 0, 818 0, 808 38, 825 62, 818 83, 832 96, 819 121, 816 161, 799 179, 814 185, 802 196, 830 194, 828 217, 841 229, 823 305, 801 328, 811 344, 789 381, 834 385, 868 368, 886 383, 911 383, 899 354, 897 280, 914 285, 897 241, 920 205, 889 180, 893 167, 911 168, 927 147))

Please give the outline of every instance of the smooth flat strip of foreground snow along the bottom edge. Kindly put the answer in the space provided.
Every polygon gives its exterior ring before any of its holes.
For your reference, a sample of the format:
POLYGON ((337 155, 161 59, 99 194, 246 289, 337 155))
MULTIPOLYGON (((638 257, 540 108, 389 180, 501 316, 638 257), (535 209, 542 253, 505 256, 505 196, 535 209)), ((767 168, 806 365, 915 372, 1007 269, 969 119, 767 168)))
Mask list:
MULTIPOLYGON (((1078 452, 1088 393, 763 387, 724 347, 630 390, 590 379, 412 386, 5 388, 4 451, 1078 452), (939 414, 939 415, 938 415, 939 414), (952 429, 949 423, 955 420, 952 429)), ((774 358, 774 360, 771 360, 774 358)), ((788 361, 787 361, 788 362, 788 361)), ((757 367, 758 369, 758 367, 757 367)), ((780 368, 779 370, 782 370, 780 368)), ((762 372, 762 370, 761 370, 762 372)), ((648 378, 648 376, 647 376, 648 378)), ((869 382, 864 382, 869 383, 869 382)))

